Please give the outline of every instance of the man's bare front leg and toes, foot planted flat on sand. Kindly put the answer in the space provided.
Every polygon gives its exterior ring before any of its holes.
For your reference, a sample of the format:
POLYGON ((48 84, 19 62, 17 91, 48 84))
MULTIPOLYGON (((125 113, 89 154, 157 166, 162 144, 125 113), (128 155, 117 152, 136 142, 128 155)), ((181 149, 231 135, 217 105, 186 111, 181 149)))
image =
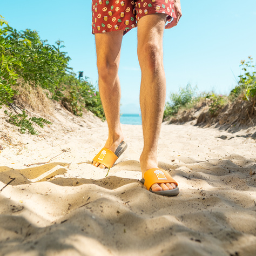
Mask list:
MULTIPOLYGON (((158 168, 157 144, 163 120, 166 82, 163 64, 163 34, 165 14, 151 14, 138 22, 138 59, 142 70, 140 85, 140 109, 144 147, 140 156, 142 175, 158 168)), ((171 190, 175 184, 153 184, 153 191, 171 190)))

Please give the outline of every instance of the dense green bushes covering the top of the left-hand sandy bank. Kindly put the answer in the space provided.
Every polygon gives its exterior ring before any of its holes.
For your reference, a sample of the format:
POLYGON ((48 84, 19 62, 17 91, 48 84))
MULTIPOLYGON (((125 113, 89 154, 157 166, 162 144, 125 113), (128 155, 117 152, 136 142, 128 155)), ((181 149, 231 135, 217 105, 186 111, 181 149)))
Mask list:
MULTIPOLYGON (((87 109, 104 119, 98 91, 86 79, 76 78, 62 48, 62 41, 49 45, 36 31, 17 31, 0 16, 0 107, 13 102, 19 93, 17 78, 21 78, 30 86, 41 86, 49 98, 78 116, 87 109)), ((24 120, 26 114, 22 115, 19 118, 24 120)))

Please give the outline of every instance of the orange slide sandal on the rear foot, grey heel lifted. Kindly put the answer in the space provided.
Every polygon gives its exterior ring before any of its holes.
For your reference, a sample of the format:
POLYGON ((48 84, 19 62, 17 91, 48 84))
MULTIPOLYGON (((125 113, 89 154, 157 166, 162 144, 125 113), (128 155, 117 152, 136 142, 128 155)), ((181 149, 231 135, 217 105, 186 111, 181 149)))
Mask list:
POLYGON ((106 168, 110 168, 113 166, 113 164, 116 162, 116 160, 121 156, 121 154, 124 153, 124 151, 127 149, 127 143, 121 142, 116 151, 112 152, 109 149, 106 149, 106 147, 103 147, 102 150, 99 151, 99 153, 93 158, 93 161, 96 161, 100 164, 105 165, 106 168))

